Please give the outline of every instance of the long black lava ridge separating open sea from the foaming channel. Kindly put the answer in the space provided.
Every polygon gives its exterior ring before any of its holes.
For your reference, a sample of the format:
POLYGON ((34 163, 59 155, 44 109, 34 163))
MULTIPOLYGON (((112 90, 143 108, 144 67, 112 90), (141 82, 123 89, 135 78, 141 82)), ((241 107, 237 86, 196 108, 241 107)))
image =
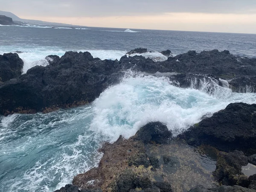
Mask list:
MULTIPOLYGON (((89 52, 66 52, 61 58, 49 55, 46 59, 49 66, 33 67, 23 76, 1 83, 0 114, 49 112, 92 102, 109 85, 118 83, 123 71, 128 69, 146 73, 181 72, 183 74, 170 77, 173 84, 180 87, 190 87, 194 80, 194 88, 199 88, 201 81, 215 81, 224 86, 221 79, 232 78, 230 84, 234 91, 256 91, 256 59, 239 58, 228 51, 189 51, 162 62, 126 55, 120 61, 102 61, 89 52), (247 76, 242 77, 244 75, 247 76)), ((2 77, 2 81, 6 80, 2 77)), ((209 94, 211 92, 209 88, 209 94)))

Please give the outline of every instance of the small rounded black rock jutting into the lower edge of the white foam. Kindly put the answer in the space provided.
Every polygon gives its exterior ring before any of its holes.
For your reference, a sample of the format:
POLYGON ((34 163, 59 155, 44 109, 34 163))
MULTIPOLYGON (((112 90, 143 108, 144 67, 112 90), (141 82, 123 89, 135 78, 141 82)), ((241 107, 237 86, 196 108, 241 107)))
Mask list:
POLYGON ((143 143, 166 144, 170 137, 172 137, 172 133, 161 122, 150 122, 135 134, 135 138, 143 141, 143 143))

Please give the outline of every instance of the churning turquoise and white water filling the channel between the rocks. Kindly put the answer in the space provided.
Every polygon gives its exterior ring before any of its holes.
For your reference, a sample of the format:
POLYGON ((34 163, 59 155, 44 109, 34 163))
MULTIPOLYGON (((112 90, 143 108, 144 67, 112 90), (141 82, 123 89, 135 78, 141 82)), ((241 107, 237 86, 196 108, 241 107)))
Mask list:
POLYGON ((97 148, 119 135, 128 138, 151 121, 174 135, 231 102, 256 103, 256 93, 179 88, 168 77, 128 71, 92 104, 48 114, 0 117, 0 191, 52 192, 96 166, 97 148), (221 95, 222 93, 222 95, 221 95))

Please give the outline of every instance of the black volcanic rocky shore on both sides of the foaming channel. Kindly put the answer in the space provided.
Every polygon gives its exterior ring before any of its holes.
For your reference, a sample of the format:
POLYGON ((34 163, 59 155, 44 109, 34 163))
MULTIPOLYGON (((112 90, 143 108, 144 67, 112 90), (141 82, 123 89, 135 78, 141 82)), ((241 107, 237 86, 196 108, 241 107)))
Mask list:
MULTIPOLYGON (((217 84, 256 93, 256 58, 227 50, 189 51, 158 62, 137 55, 102 61, 89 52, 72 51, 46 59, 48 66, 22 75, 17 53, 0 55, 0 115, 47 113, 93 102, 127 70, 166 76, 183 88, 217 84)), ((98 167, 55 192, 253 192, 256 171, 246 175, 243 170, 256 166, 256 104, 231 103, 177 137, 163 123, 149 122, 133 137, 120 136, 99 152, 98 167)))

